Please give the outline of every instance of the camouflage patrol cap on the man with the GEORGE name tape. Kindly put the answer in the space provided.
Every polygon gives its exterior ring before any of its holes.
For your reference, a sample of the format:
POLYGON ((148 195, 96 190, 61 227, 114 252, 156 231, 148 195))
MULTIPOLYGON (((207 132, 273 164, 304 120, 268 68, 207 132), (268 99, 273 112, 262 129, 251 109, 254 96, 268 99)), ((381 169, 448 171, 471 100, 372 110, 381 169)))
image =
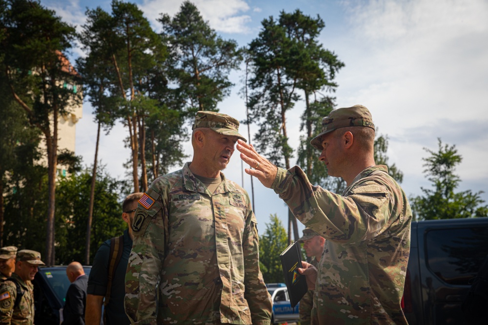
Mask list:
POLYGON ((217 133, 234 135, 247 142, 246 138, 238 132, 239 121, 229 115, 210 111, 199 111, 195 116, 195 123, 193 123, 191 129, 195 130, 197 128, 210 128, 217 133))

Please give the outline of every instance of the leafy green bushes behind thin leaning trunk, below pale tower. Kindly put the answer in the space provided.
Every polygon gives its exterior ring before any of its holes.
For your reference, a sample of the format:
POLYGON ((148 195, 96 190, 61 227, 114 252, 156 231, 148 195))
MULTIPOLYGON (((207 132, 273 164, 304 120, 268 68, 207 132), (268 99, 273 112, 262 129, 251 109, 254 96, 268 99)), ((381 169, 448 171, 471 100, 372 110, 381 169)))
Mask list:
MULTIPOLYGON (((85 260, 85 234, 90 201, 92 171, 60 179, 56 207, 56 263, 68 264, 85 260)), ((122 220, 122 194, 127 184, 112 178, 103 168, 98 168, 95 183, 95 201, 90 242, 90 261, 99 246, 107 239, 119 236, 127 228, 122 220)))

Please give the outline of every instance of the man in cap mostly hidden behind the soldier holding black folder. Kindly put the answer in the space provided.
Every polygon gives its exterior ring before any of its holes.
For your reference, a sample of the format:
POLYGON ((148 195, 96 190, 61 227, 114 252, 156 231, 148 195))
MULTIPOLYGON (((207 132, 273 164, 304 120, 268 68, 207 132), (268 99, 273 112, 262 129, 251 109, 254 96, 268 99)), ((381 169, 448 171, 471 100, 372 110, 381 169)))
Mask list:
MULTIPOLYGON (((311 257, 310 264, 318 268, 320 258, 324 251, 325 238, 320 236, 312 229, 305 228, 304 235, 298 240, 299 243, 304 243, 304 249, 307 257, 311 257)), ((310 325, 310 316, 313 307, 313 289, 309 289, 298 307, 300 313, 300 325, 310 325)))

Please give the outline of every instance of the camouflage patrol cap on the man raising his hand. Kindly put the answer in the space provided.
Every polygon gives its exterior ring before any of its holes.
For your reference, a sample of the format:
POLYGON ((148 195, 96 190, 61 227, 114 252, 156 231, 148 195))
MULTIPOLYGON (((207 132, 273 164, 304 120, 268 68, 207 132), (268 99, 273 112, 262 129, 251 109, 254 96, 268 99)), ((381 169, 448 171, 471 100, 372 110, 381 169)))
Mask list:
POLYGON ((348 126, 366 126, 374 130, 371 113, 363 105, 333 110, 322 119, 322 132, 314 137, 310 144, 318 150, 322 150, 322 135, 348 126))

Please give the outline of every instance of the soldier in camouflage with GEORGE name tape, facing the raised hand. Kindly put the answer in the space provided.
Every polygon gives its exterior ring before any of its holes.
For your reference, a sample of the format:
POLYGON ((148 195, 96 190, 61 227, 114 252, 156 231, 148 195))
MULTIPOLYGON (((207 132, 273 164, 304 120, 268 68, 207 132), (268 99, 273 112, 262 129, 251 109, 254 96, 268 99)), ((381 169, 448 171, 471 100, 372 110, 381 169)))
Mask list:
POLYGON ((125 277, 134 324, 270 324, 256 217, 247 192, 221 172, 245 141, 238 128, 228 115, 198 112, 191 163, 139 200, 125 277))

